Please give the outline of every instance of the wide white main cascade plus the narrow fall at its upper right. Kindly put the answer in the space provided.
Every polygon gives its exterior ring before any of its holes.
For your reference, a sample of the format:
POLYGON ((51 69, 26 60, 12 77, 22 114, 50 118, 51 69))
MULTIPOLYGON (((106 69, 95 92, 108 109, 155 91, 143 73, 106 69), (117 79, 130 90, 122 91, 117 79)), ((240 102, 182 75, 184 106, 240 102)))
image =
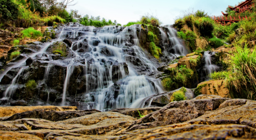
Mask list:
MULTIPOLYGON (((169 42, 172 42, 174 46, 175 56, 186 55, 187 52, 176 37, 175 30, 170 26, 167 28, 169 42)), ((72 42, 67 47, 69 52, 67 57, 40 60, 41 63, 47 63, 44 66, 45 75, 42 80, 47 86, 47 104, 51 99, 50 92, 58 92, 58 89, 53 87, 54 84, 47 84, 50 77, 48 75, 50 74, 52 77, 53 72, 56 72, 54 71, 55 66, 64 67, 59 105, 69 105, 69 102, 66 101, 69 99, 67 96, 76 95, 76 93, 72 93, 73 90, 69 89, 72 88, 74 82, 80 82, 80 79, 73 79, 75 72, 78 72, 78 67, 83 69, 78 75, 85 77, 86 84, 83 95, 76 101, 79 104, 79 109, 108 111, 122 107, 143 107, 142 100, 144 98, 163 93, 159 80, 145 76, 145 74, 156 71, 156 66, 139 47, 138 30, 141 30, 138 25, 95 28, 76 23, 69 23, 55 29, 59 38, 41 45, 38 52, 29 55, 29 57, 40 58, 43 55, 48 57, 48 55, 53 55, 48 48, 55 42, 61 42, 64 39, 69 39, 72 42), (48 89, 51 90, 48 91, 48 89)), ((168 37, 165 31, 160 31, 164 42, 167 42, 168 37)), ((21 71, 27 58, 10 66, 5 73, 0 75, 1 79, 11 68, 20 67, 21 71)), ((19 77, 19 74, 16 77, 19 77)))

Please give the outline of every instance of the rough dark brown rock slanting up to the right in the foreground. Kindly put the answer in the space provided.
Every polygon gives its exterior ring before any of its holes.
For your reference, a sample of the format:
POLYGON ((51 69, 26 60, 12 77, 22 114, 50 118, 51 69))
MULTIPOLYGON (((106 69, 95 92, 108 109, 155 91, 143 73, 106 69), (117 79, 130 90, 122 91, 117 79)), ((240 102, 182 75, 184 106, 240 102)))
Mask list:
POLYGON ((126 131, 152 128, 157 126, 182 123, 202 116, 207 111, 218 109, 221 103, 230 98, 211 98, 171 102, 162 109, 138 119, 126 131))

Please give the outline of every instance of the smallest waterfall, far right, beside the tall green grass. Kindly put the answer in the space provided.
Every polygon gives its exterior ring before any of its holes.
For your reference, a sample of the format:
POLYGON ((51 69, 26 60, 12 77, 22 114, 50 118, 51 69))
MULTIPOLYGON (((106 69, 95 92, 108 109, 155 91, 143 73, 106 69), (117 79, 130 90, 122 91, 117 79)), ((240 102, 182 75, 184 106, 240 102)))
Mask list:
POLYGON ((211 64, 211 54, 209 53, 209 51, 205 51, 204 57, 205 57, 205 72, 207 74, 211 74, 212 72, 217 71, 218 66, 211 64))

